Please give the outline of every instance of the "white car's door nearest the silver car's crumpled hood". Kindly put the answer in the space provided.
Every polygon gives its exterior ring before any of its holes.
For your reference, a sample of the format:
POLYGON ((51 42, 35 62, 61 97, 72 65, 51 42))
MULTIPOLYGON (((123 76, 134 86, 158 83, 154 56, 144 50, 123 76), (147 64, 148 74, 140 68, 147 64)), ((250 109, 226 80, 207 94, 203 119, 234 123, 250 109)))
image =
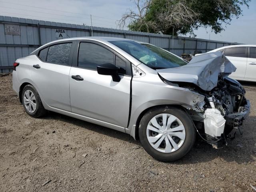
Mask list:
POLYGON ((223 54, 236 66, 236 72, 232 72, 229 77, 243 79, 247 65, 247 47, 226 48, 223 54))

